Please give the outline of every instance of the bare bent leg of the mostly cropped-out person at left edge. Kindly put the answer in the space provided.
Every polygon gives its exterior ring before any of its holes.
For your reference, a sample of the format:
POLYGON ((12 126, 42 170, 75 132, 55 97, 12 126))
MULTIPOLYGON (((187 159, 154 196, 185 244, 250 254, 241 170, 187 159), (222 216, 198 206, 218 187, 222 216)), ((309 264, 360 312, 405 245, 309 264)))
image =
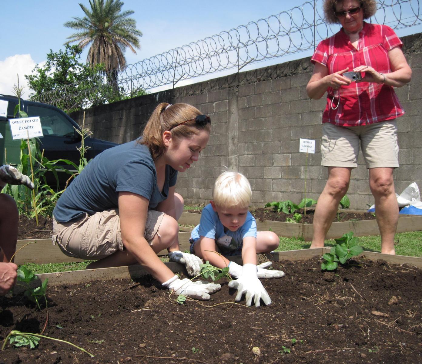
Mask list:
POLYGON ((13 197, 0 193, 0 262, 8 263, 16 251, 19 214, 13 197))

